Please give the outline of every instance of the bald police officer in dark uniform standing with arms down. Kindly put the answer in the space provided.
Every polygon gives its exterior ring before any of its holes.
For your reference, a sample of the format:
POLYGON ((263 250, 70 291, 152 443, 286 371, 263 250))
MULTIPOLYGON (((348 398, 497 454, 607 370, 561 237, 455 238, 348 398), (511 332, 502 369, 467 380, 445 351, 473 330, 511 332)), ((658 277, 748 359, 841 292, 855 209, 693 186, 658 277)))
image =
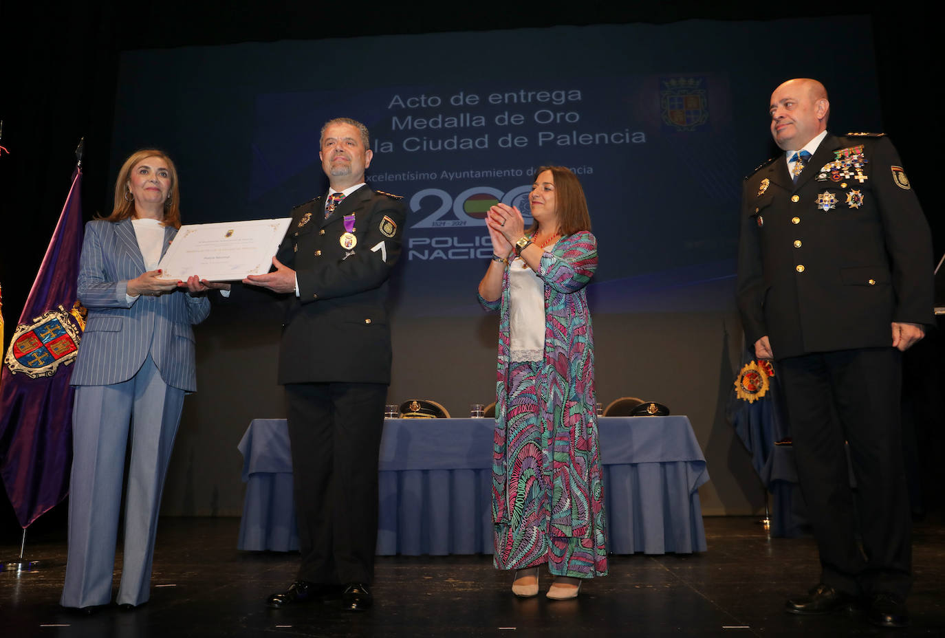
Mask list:
POLYGON ((748 343, 778 362, 820 554, 820 583, 786 610, 833 612, 862 596, 870 622, 902 627, 901 355, 933 322, 928 224, 887 138, 827 132, 820 82, 784 82, 770 112, 785 153, 745 181, 737 294, 748 343))

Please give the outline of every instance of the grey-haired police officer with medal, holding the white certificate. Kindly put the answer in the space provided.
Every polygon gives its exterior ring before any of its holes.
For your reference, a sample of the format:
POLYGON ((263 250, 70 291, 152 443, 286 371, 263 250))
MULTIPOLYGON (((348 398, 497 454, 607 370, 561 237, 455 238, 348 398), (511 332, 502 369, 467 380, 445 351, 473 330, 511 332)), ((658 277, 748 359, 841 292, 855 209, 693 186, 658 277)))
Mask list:
POLYGON ((364 180, 368 129, 321 129, 330 189, 292 211, 275 269, 244 280, 294 295, 279 353, 301 544, 298 578, 266 604, 340 597, 371 605, 377 462, 390 384, 387 277, 401 253, 404 204, 364 180))

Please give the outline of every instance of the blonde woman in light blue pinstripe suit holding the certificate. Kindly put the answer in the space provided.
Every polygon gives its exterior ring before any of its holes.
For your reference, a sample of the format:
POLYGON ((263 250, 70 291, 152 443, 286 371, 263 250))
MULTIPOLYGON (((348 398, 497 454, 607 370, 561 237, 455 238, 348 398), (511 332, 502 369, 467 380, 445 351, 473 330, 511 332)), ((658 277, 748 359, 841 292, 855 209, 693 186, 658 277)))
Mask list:
POLYGON ((156 269, 180 228, 179 200, 174 163, 161 151, 139 150, 118 174, 112 215, 85 229, 78 299, 89 316, 71 380, 77 388, 63 607, 91 612, 112 599, 129 440, 116 602, 133 609, 149 595, 164 475, 184 394, 196 389, 191 326, 210 313, 196 275, 164 280, 156 269))

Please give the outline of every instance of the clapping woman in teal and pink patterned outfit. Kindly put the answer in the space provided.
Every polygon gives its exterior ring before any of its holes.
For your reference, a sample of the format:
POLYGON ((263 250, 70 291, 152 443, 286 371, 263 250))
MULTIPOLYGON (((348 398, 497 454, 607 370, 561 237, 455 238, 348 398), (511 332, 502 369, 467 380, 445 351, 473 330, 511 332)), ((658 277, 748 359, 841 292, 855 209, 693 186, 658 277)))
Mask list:
POLYGON ((607 574, 593 392, 593 333, 584 286, 597 267, 584 191, 562 166, 542 166, 526 231, 515 207, 486 219, 493 256, 479 301, 501 308, 492 455, 497 569, 512 592, 576 597, 583 578, 607 574))

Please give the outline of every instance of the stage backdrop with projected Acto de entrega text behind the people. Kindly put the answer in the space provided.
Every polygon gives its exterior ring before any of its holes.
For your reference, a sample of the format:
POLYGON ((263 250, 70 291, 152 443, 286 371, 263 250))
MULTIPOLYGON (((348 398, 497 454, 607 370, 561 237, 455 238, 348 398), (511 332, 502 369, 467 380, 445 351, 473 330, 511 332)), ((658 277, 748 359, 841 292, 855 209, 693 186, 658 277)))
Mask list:
MULTIPOLYGON (((322 123, 365 122, 369 181, 409 208, 389 400, 432 398, 464 415, 494 398, 497 320, 475 302, 484 213, 495 201, 526 211, 537 164, 572 167, 599 241, 598 400, 636 395, 688 414, 713 476, 705 512, 747 513, 762 491, 724 419, 742 338, 741 181, 776 152, 767 99, 785 78, 826 84, 833 132, 880 129, 872 41, 868 18, 842 17, 130 51, 111 174, 135 148, 162 147, 178 164, 185 223, 285 216, 327 186, 322 123), (827 57, 787 48, 827 41, 827 57)), ((165 513, 240 511, 236 443, 251 418, 283 415, 280 321, 274 303, 217 306, 198 328, 199 392, 165 513)))

